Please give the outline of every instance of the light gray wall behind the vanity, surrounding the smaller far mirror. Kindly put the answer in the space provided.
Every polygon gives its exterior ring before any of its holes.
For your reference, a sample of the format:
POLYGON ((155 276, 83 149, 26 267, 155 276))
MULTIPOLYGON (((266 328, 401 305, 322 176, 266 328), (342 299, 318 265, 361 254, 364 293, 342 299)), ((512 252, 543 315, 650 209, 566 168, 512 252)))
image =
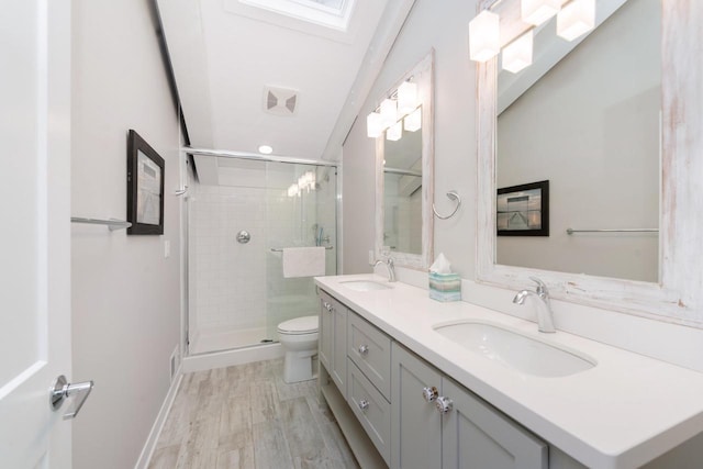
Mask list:
POLYGON ((371 271, 373 249, 375 143, 366 136, 366 115, 378 99, 429 51, 435 49, 435 194, 437 210, 451 210, 444 197, 457 190, 464 208, 435 222, 435 254, 444 252, 462 278, 476 264, 476 98, 475 67, 469 62, 468 24, 476 0, 446 0, 438 7, 417 0, 393 45, 343 148, 344 272, 371 271))

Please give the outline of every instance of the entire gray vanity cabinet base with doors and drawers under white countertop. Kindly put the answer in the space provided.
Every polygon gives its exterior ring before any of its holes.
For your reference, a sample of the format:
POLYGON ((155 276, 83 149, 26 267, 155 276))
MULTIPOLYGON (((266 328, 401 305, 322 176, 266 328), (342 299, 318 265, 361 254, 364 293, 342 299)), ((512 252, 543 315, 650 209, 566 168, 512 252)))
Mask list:
POLYGON ((321 392, 361 467, 547 469, 547 444, 502 412, 322 290, 320 309, 321 392))

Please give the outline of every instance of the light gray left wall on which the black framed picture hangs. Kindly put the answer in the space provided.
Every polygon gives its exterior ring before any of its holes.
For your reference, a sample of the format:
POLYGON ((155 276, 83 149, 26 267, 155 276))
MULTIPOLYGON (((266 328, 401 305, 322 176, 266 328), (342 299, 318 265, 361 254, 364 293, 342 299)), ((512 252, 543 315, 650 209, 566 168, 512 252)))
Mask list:
POLYGON ((145 0, 72 2, 71 214, 123 219, 126 135, 166 160, 164 236, 74 225, 74 467, 133 467, 170 386, 180 327, 179 135, 145 0), (170 242, 170 257, 164 243, 170 242))

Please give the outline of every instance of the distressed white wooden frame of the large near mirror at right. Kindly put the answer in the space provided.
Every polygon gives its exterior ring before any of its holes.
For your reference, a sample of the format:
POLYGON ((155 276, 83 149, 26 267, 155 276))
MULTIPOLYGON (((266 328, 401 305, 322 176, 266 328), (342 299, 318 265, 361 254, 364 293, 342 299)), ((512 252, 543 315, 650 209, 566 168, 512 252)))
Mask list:
MULTIPOLYGON (((520 1, 495 3, 501 36, 523 27, 520 1)), ((538 277, 554 298, 703 328, 703 2, 662 1, 662 172, 659 282, 610 279, 495 264, 496 64, 477 64, 479 282, 523 289, 538 277)))

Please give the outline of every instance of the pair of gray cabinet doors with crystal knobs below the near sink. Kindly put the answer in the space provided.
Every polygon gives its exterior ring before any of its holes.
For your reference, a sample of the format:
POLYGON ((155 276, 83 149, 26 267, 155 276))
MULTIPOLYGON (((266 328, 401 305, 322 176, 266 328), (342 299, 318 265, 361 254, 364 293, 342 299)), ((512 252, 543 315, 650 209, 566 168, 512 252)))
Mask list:
POLYGON ((544 442, 399 344, 392 350, 394 469, 547 469, 544 442))

